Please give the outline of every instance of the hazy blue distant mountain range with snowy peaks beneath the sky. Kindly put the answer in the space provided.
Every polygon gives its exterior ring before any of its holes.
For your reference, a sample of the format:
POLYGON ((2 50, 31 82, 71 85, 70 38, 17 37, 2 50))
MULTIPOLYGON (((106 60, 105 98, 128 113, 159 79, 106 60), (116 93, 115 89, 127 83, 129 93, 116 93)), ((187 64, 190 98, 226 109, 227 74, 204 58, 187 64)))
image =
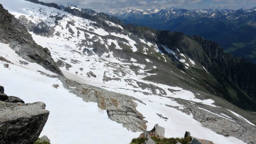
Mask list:
POLYGON ((256 63, 256 8, 186 10, 176 8, 109 11, 126 24, 200 35, 217 41, 224 52, 256 63))

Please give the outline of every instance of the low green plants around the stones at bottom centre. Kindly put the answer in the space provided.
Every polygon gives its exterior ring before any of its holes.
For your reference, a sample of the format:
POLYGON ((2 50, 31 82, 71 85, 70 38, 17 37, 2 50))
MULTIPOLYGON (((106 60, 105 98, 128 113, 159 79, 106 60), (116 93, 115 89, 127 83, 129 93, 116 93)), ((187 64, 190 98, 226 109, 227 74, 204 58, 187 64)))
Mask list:
MULTIPOLYGON (((176 144, 177 142, 180 142, 182 144, 190 144, 191 137, 187 138, 157 138, 157 137, 151 137, 153 141, 156 142, 156 144, 176 144)), ((130 144, 144 144, 146 141, 145 138, 136 138, 133 139, 130 144)))

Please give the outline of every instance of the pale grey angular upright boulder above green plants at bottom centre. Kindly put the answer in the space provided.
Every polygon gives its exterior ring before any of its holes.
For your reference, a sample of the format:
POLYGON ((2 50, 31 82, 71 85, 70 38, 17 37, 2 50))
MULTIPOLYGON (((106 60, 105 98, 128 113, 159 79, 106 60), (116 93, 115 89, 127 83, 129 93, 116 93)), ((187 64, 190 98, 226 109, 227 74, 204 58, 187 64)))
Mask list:
POLYGON ((139 137, 147 138, 147 139, 149 139, 152 136, 157 138, 164 138, 164 132, 165 132, 165 129, 161 126, 158 126, 158 124, 156 124, 151 131, 143 132, 142 134, 140 134, 139 137))

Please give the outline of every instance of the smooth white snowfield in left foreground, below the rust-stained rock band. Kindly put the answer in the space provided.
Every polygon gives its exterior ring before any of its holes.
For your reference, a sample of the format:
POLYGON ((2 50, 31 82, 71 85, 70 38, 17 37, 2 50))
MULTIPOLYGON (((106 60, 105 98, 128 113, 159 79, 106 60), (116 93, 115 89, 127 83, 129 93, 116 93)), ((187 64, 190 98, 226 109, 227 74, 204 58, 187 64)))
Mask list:
POLYGON ((27 103, 46 103, 50 115, 41 135, 47 135, 51 143, 102 144, 107 141, 121 144, 129 143, 131 138, 139 135, 108 119, 106 111, 98 108, 96 103, 86 103, 69 93, 57 78, 41 75, 38 71, 54 73, 20 58, 8 44, 0 43, 0 55, 13 63, 4 68, 6 62, 0 61, 0 80, 5 92, 19 95, 27 103), (28 64, 20 64, 19 61, 28 64), (60 87, 56 89, 53 84, 60 87))

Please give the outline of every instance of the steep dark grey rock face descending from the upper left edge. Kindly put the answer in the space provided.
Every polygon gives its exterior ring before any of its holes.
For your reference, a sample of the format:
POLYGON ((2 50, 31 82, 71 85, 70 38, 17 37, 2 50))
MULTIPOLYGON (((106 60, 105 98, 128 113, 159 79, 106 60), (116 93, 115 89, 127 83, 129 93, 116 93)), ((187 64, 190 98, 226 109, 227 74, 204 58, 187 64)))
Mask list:
POLYGON ((63 75, 47 48, 37 45, 26 28, 0 4, 0 42, 10 47, 22 58, 36 62, 44 68, 63 75))

